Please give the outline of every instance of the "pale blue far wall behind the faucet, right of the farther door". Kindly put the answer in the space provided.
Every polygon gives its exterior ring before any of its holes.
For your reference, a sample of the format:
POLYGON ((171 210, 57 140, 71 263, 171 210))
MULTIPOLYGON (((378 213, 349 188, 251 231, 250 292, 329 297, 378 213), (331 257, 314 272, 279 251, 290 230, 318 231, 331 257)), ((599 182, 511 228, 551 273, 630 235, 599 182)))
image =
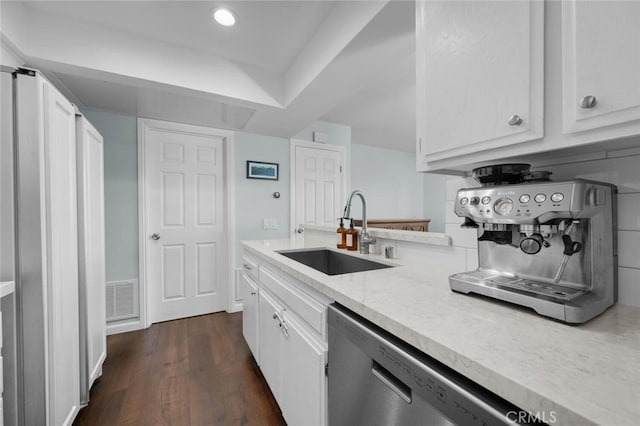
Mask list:
MULTIPOLYGON (((423 176, 415 170, 415 154, 366 145, 351 146, 351 187, 367 199, 367 216, 422 218, 423 176)), ((357 216, 360 204, 354 204, 357 216)))

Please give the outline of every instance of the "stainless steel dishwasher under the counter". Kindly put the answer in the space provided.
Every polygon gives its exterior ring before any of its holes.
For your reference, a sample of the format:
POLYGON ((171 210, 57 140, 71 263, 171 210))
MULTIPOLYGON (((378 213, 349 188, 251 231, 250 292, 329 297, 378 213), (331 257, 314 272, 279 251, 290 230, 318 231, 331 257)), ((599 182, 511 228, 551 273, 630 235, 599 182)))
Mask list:
POLYGON ((532 424, 504 399, 338 304, 329 306, 328 380, 330 426, 532 424))

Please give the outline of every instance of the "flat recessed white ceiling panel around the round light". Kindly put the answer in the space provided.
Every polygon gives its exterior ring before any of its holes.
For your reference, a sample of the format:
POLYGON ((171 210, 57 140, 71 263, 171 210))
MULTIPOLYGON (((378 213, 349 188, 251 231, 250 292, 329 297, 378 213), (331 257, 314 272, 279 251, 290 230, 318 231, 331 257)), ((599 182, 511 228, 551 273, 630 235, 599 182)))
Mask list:
POLYGON ((25 1, 58 18, 73 18, 284 72, 318 30, 334 1, 25 1), (238 16, 233 28, 211 19, 217 6, 238 16))

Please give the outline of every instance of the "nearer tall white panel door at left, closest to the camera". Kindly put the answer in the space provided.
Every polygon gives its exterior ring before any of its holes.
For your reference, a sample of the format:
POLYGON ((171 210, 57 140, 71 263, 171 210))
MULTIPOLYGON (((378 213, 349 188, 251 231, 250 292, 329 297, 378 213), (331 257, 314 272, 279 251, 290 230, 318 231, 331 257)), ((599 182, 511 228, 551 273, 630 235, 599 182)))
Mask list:
MULTIPOLYGON (((69 425, 80 403, 76 114, 48 83, 43 86, 48 282, 49 420, 69 425)), ((35 166, 35 165, 34 165, 35 166)))

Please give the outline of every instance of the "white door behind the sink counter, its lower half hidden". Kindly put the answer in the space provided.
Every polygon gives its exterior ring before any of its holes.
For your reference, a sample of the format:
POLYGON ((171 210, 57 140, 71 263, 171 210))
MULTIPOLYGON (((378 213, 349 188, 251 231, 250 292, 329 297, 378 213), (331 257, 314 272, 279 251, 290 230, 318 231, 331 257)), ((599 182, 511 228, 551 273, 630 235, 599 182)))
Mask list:
POLYGON ((336 225, 344 208, 344 148, 292 141, 293 228, 336 225))

